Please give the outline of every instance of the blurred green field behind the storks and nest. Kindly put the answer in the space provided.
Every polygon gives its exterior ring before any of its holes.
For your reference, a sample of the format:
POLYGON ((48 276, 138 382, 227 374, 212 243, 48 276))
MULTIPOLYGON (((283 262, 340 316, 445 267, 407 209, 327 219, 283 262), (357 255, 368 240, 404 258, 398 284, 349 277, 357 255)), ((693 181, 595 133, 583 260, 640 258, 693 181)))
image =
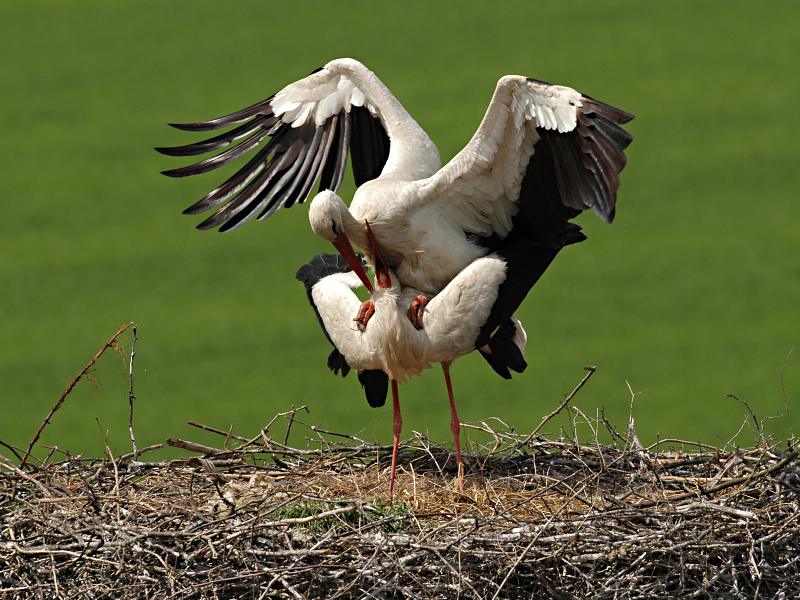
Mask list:
MULTIPOLYGON (((0 69, 0 440, 25 445, 117 327, 139 324, 141 444, 202 439, 187 420, 251 433, 292 404, 309 420, 389 438, 391 411, 332 377, 296 268, 331 248, 303 207, 231 234, 180 211, 219 173, 157 145, 168 121, 259 100, 327 60, 371 67, 444 158, 474 132, 498 77, 572 85, 637 115, 617 221, 581 223, 519 316, 528 371, 453 368, 461 417, 529 429, 582 375, 576 401, 640 437, 724 443, 746 400, 767 430, 800 429, 800 5, 790 1, 275 4, 5 2, 0 69), (794 74, 793 74, 794 73, 794 74), (781 383, 783 375, 783 384, 781 383)), ((352 194, 350 185, 343 196, 352 194)), ((127 448, 127 368, 107 356, 43 438, 127 448)), ((401 388, 405 430, 449 441, 430 371, 401 388)), ((563 423, 563 422, 562 422, 563 423)), ((550 430, 557 430, 554 423, 550 430)), ((745 437, 750 434, 745 429, 745 437)), ((752 439, 750 437, 749 439, 752 439)))

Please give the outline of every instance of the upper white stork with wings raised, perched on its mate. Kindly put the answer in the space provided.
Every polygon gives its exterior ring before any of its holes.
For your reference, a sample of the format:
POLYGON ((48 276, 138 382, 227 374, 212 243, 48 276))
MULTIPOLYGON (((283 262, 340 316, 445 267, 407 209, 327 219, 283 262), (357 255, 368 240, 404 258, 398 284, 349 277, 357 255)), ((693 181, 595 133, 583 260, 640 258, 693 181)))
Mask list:
MULTIPOLYGON (((623 150, 632 140, 619 124, 632 118, 569 87, 505 76, 475 135, 442 166, 436 146, 377 76, 342 58, 230 115, 173 124, 188 131, 235 127, 157 150, 185 156, 230 146, 164 171, 171 177, 204 173, 253 151, 184 211, 214 210, 200 229, 228 231, 253 217, 266 219, 306 201, 319 181, 323 193, 311 203, 312 228, 333 242, 368 289, 350 246, 372 259, 365 223, 401 284, 434 294, 499 240, 536 229, 530 208, 543 198, 556 199, 567 218, 592 209, 612 221, 623 150), (358 186, 349 209, 335 193, 348 151, 358 186)), ((421 315, 424 303, 424 297, 415 300, 410 316, 421 315)))

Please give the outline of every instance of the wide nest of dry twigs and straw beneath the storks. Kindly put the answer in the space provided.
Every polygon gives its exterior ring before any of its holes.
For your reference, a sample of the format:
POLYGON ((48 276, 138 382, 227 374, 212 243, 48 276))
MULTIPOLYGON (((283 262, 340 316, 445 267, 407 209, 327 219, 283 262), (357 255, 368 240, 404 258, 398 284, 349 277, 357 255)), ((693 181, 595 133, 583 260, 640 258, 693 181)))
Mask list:
MULTIPOLYGON (((285 415, 299 427, 296 411, 285 415)), ((197 456, 0 460, 0 596, 794 597, 797 452, 519 435, 466 456, 308 426, 197 456), (296 432, 296 430, 295 430, 296 432), (24 462, 24 461, 23 461, 24 462)), ((211 431, 213 428, 204 427, 211 431)), ((538 429, 538 428, 537 428, 538 429)))

